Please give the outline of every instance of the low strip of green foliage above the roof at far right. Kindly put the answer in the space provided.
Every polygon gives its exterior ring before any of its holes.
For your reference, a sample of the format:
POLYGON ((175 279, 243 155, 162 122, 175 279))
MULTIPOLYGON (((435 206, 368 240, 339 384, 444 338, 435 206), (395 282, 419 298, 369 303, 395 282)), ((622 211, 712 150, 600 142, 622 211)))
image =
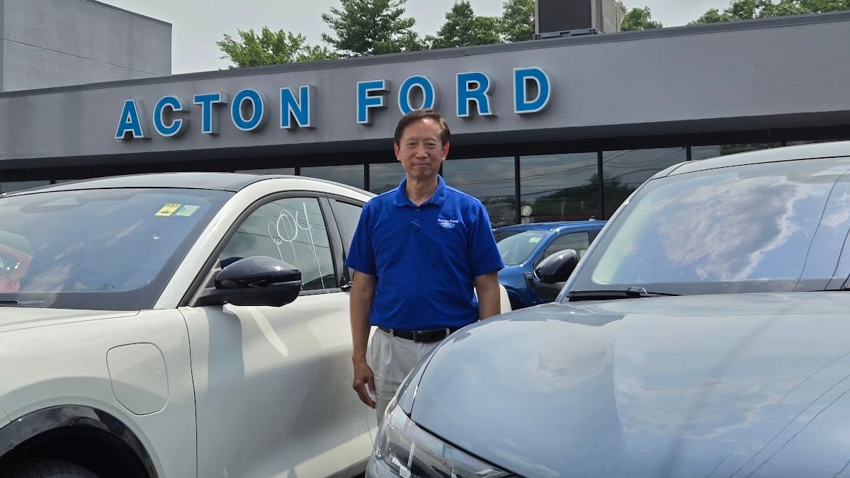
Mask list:
POLYGON ((850 0, 732 0, 721 12, 710 9, 689 25, 732 20, 751 20, 796 14, 817 14, 850 9, 850 0))

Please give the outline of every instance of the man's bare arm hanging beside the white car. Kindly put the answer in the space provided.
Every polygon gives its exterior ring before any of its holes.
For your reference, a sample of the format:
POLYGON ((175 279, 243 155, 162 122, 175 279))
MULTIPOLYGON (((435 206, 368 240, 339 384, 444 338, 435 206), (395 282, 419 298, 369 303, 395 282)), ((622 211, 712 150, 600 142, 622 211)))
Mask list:
POLYGON ((354 270, 351 292, 348 295, 351 342, 354 345, 354 354, 351 356, 354 363, 352 387, 360 396, 360 401, 372 408, 375 407, 375 401, 371 398, 371 395, 375 395, 375 376, 366 362, 366 346, 369 344, 369 312, 375 297, 376 282, 376 276, 354 270))

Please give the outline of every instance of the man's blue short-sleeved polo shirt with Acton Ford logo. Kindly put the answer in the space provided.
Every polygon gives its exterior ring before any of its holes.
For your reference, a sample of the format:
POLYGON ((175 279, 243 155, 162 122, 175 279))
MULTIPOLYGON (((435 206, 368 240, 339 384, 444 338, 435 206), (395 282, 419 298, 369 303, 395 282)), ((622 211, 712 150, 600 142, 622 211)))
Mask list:
POLYGON ((366 203, 346 267, 377 276, 371 325, 463 327, 478 320, 473 279, 504 267, 487 210, 445 185, 416 206, 398 188, 366 203))

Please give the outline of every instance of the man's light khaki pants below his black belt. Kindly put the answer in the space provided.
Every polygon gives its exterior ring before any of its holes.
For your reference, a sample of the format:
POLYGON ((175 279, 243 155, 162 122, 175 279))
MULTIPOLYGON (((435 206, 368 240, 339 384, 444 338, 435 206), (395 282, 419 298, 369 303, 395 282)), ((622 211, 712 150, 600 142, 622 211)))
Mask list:
POLYGON ((423 356, 439 344, 421 344, 408 339, 399 339, 380 328, 371 339, 371 368, 375 375, 375 403, 377 424, 383 420, 389 401, 393 399, 399 385, 423 356))

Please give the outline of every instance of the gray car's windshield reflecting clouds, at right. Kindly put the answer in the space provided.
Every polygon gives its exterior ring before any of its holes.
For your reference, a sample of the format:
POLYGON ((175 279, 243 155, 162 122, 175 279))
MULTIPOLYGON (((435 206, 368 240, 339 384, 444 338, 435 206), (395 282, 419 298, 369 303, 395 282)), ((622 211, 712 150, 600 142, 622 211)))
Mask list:
POLYGON ((599 253, 587 256, 562 297, 628 287, 675 294, 840 287, 848 168, 835 159, 775 162, 651 180, 609 221, 599 253))

